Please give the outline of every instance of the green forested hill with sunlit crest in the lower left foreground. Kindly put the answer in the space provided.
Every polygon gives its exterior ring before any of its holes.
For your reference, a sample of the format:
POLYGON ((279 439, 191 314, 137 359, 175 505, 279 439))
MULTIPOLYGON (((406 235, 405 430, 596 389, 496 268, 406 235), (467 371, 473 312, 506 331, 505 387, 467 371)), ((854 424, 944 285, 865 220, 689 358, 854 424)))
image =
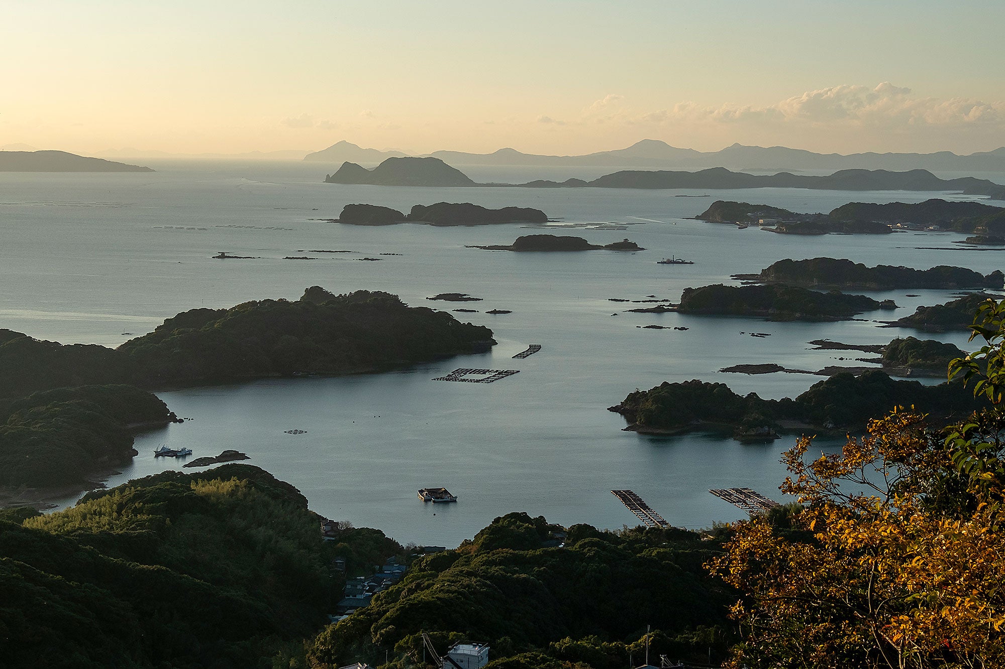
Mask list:
POLYGON ((0 512, 0 664, 269 667, 327 622, 337 550, 402 550, 377 530, 336 546, 319 527, 295 488, 243 464, 0 512))

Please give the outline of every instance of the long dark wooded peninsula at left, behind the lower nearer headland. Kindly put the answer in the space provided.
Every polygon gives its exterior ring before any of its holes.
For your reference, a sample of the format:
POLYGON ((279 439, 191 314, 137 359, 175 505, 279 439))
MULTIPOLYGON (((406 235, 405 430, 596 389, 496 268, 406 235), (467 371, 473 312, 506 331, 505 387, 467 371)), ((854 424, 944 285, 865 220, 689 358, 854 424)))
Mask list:
POLYGON ((335 295, 312 286, 295 301, 184 311, 118 349, 62 346, 0 330, 0 398, 85 384, 161 389, 377 372, 494 344, 487 327, 408 306, 397 295, 335 295))

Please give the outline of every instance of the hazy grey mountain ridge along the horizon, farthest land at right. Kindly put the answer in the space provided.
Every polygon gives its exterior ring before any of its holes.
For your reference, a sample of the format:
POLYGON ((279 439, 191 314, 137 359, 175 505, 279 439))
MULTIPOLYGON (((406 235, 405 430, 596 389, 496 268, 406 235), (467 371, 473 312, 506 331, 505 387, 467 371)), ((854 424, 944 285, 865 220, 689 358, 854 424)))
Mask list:
MULTIPOLYGON (((379 163, 387 158, 402 158, 408 154, 400 151, 364 149, 346 141, 328 149, 308 154, 308 162, 379 163)), ((506 148, 490 154, 472 154, 461 151, 434 151, 417 158, 438 158, 451 165, 527 165, 527 166, 607 166, 703 169, 724 167, 735 170, 842 170, 860 168, 868 170, 904 171, 914 169, 943 172, 1005 172, 1005 147, 994 151, 961 156, 949 151, 931 154, 862 153, 817 154, 788 147, 748 147, 734 144, 722 151, 700 152, 679 149, 660 140, 642 140, 625 149, 600 151, 583 156, 543 156, 525 154, 506 148)))

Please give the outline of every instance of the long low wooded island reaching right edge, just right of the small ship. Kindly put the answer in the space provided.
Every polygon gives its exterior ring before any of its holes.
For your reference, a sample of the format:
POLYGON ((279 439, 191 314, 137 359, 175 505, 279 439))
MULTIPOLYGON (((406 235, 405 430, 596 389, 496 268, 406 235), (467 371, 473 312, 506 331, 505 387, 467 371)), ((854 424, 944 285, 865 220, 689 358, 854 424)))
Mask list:
POLYGON ((982 275, 966 267, 939 265, 931 269, 877 265, 835 258, 792 260, 772 263, 758 274, 737 274, 733 278, 762 283, 784 283, 818 288, 858 288, 892 290, 895 288, 1001 288, 1005 275, 995 270, 982 275))

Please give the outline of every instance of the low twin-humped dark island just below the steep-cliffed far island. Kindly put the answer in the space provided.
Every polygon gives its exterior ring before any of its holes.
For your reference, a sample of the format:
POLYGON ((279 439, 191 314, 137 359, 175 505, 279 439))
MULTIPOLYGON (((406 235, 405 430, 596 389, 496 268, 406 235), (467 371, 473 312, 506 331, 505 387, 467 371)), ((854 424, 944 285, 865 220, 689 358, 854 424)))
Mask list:
POLYGON ((424 223, 435 226, 495 225, 500 223, 547 223, 545 212, 528 207, 502 207, 486 209, 469 202, 437 202, 432 205, 415 205, 406 216, 390 207, 371 204, 351 204, 342 209, 337 219, 349 225, 394 225, 395 223, 424 223))

